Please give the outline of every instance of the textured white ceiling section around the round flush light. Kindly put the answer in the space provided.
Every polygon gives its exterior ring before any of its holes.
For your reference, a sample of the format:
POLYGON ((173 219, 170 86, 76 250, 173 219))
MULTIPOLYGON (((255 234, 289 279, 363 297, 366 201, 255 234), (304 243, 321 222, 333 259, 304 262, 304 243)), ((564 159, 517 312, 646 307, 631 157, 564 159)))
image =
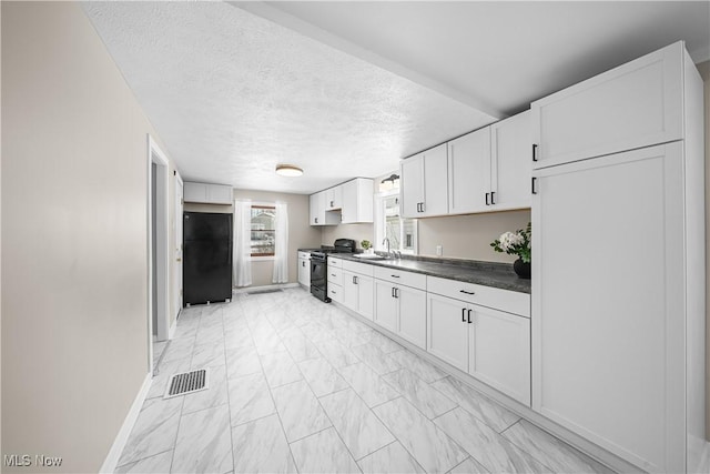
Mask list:
POLYGON ((495 120, 226 3, 83 8, 186 180, 308 193, 495 120))

